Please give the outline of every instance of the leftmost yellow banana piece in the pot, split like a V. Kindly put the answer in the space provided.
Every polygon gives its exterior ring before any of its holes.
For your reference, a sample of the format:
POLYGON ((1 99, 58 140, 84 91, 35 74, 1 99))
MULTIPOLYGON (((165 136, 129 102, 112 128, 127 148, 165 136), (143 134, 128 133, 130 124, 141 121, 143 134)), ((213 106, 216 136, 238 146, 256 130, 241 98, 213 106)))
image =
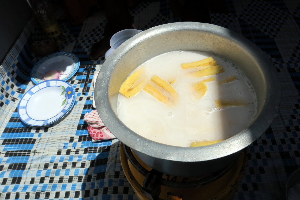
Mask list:
POLYGON ((127 98, 135 96, 137 93, 139 93, 143 89, 145 80, 141 81, 135 87, 134 87, 134 84, 136 84, 137 80, 141 77, 143 72, 144 72, 144 70, 138 69, 137 71, 132 73, 121 85, 119 93, 126 96, 127 98))

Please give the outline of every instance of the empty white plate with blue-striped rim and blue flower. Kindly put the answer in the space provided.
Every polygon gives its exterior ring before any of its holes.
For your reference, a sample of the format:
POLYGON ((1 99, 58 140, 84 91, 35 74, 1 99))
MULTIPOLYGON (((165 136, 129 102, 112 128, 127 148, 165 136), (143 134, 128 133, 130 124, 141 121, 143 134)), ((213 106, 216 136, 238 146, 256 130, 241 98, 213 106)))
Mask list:
POLYGON ((20 100, 19 118, 32 126, 52 124, 70 111, 75 98, 73 86, 66 81, 43 81, 30 88, 20 100))

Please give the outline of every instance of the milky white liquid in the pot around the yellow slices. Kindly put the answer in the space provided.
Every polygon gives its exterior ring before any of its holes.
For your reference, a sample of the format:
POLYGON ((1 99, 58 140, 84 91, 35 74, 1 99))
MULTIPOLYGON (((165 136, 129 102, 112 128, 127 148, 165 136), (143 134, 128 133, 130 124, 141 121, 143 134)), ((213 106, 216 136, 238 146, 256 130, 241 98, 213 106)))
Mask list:
POLYGON ((256 115, 256 95, 252 85, 248 85, 249 79, 236 64, 213 55, 225 72, 202 78, 189 76, 196 69, 181 67, 181 63, 202 60, 208 56, 210 55, 207 53, 180 50, 159 55, 143 63, 140 67, 145 68, 149 82, 153 75, 166 81, 176 78, 172 86, 178 93, 179 100, 172 107, 162 104, 145 91, 129 99, 119 95, 119 118, 141 136, 174 146, 227 139, 242 131, 256 115), (218 84, 232 75, 236 75, 236 81, 218 84), (201 99, 196 99, 192 84, 209 77, 214 77, 216 81, 206 83, 207 93, 201 99), (214 100, 230 99, 244 100, 249 104, 226 109, 216 107, 214 100))

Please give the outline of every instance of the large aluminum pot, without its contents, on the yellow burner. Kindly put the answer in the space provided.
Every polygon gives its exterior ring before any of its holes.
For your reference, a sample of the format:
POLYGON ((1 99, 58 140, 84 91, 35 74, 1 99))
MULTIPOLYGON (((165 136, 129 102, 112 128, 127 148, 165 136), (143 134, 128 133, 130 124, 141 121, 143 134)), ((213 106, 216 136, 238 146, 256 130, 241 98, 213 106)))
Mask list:
POLYGON ((265 53, 241 35, 217 25, 177 22, 150 28, 119 46, 101 67, 94 94, 104 124, 143 162, 160 172, 190 177, 229 165, 264 133, 278 111, 280 81, 265 53), (213 145, 178 147, 146 139, 120 121, 118 91, 128 75, 146 60, 180 49, 213 52, 236 63, 247 75, 256 91, 257 115, 246 129, 213 145))

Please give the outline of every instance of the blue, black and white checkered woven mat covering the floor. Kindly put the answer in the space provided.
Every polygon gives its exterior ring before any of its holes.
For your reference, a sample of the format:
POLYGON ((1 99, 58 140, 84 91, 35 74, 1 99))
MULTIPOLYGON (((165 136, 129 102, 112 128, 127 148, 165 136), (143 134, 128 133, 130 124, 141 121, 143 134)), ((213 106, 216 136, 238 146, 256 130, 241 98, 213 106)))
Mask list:
MULTIPOLYGON (((282 85, 281 104, 271 127, 249 146, 247 169, 234 199, 284 199, 286 182, 300 167, 300 2, 293 0, 226 0, 228 14, 211 13, 212 24, 229 28, 266 52, 282 85)), ((130 10, 137 29, 179 21, 168 1, 141 2, 130 10)), ((60 51, 80 60, 68 82, 76 91, 72 110, 46 127, 22 123, 17 105, 33 86, 30 70, 41 57, 30 44, 42 39, 31 19, 0 67, 0 199, 137 199, 119 158, 119 140, 92 143, 83 121, 92 110, 93 72, 88 92, 81 93, 84 65, 91 45, 103 37, 104 13, 89 16, 82 25, 60 22, 66 37, 60 51)))

